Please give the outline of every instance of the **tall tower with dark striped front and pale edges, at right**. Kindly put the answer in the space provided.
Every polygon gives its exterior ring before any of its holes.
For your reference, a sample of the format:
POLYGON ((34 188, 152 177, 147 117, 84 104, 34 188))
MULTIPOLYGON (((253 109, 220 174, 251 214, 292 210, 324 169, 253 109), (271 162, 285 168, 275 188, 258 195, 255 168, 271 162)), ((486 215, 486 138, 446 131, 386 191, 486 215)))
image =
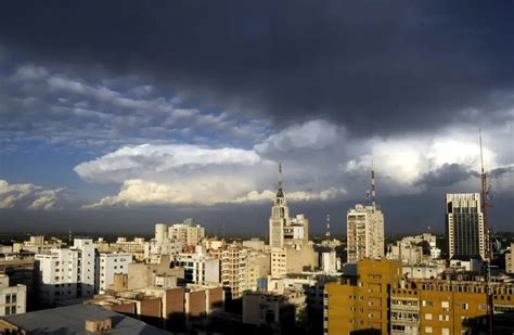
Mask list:
POLYGON ((486 231, 479 193, 446 195, 448 258, 486 258, 486 231))

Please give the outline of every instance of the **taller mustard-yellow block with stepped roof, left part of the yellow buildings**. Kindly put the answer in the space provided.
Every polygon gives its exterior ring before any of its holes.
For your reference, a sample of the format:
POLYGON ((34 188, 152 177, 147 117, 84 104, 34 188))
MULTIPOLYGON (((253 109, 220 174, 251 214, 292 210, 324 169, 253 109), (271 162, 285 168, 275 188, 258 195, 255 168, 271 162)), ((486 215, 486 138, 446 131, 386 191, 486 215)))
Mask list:
POLYGON ((364 259, 357 263, 357 280, 325 285, 325 334, 370 328, 389 333, 389 287, 400 282, 401 261, 364 259))

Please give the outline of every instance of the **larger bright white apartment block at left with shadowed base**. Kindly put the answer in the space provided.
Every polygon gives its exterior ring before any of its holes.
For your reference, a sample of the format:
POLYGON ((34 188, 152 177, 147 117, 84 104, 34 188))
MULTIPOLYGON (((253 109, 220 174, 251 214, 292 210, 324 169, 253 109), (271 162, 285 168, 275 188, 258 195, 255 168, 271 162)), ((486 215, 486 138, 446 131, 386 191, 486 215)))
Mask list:
POLYGON ((42 304, 95 293, 95 247, 91 239, 75 239, 70 248, 37 254, 38 293, 42 304))

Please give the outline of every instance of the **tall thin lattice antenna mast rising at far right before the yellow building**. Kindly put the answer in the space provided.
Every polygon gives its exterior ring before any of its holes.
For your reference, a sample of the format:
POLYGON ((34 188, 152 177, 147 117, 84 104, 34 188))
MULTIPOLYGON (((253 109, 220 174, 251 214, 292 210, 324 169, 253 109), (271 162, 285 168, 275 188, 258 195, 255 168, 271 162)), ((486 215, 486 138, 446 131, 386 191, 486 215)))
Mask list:
POLYGON ((478 137, 480 140, 480 203, 481 212, 484 214, 484 232, 486 234, 486 285, 487 285, 487 307, 489 315, 489 334, 493 333, 493 309, 492 309, 492 287, 491 287, 491 260, 492 260, 492 247, 491 247, 491 229, 489 228, 488 208, 491 207, 489 203, 489 186, 487 184, 487 173, 484 169, 484 151, 481 147, 481 129, 478 128, 478 137))

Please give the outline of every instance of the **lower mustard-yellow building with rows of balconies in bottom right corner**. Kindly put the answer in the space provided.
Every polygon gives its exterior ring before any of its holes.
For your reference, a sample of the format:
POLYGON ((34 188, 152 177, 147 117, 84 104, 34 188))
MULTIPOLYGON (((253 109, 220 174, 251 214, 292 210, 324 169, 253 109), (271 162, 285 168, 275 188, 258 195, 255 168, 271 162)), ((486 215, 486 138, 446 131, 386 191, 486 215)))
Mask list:
MULTIPOLYGON (((514 284, 492 283, 494 319, 514 310, 514 284)), ((486 284, 423 280, 391 289, 391 334, 479 334, 488 331, 486 284)))

